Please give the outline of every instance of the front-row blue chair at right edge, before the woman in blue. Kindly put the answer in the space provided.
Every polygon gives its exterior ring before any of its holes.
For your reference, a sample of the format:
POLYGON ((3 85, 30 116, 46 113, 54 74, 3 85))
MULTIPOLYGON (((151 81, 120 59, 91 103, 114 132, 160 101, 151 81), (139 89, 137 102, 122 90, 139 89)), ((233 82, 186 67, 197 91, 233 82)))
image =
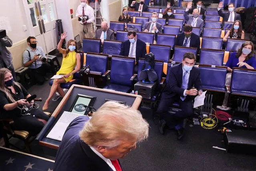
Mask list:
POLYGON ((242 96, 256 96, 256 71, 253 69, 233 68, 230 92, 242 96))

